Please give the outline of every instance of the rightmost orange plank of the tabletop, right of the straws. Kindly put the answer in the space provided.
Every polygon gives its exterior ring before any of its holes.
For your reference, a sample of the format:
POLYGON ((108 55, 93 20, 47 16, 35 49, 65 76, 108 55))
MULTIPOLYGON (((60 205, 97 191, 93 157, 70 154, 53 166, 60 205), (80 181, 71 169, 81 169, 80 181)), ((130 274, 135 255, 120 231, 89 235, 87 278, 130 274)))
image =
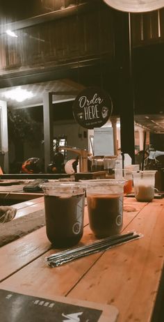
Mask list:
POLYGON ((113 303, 120 310, 118 322, 151 321, 163 269, 163 213, 161 200, 143 208, 128 230, 144 238, 104 253, 69 296, 113 303))

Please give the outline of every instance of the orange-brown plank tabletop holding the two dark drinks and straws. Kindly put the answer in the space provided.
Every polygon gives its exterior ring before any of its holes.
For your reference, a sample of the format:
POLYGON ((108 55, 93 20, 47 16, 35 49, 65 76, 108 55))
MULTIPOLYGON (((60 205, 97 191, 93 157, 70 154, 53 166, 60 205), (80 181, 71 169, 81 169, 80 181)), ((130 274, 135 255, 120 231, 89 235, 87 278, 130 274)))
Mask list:
MULTIPOLYGON (((28 215, 42 209, 44 200, 40 197, 15 207, 17 216, 28 215)), ((88 225, 87 207, 84 226, 80 244, 95 240, 88 225)), ((140 203, 124 198, 123 231, 131 230, 144 237, 49 268, 44 259, 56 250, 51 249, 42 227, 0 248, 1 289, 113 304, 120 312, 118 322, 150 322, 163 270, 164 199, 140 203)), ((157 317, 154 321, 158 322, 157 317)))

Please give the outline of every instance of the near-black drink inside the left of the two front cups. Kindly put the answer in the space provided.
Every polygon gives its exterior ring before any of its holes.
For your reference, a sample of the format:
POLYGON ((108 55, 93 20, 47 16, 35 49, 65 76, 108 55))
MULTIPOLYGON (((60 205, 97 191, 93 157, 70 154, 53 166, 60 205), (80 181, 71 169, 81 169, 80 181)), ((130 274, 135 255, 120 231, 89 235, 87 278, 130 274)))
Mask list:
POLYGON ((83 236, 85 193, 44 195, 46 230, 56 247, 76 245, 83 236))

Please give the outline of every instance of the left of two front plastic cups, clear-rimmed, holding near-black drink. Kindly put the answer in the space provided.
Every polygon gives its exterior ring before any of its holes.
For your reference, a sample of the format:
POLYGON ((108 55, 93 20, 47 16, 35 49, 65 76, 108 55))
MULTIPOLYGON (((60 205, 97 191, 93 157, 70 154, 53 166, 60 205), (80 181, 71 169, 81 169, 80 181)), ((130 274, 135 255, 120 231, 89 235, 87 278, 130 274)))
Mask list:
POLYGON ((41 187, 49 241, 59 248, 76 245, 83 236, 85 185, 55 182, 41 187))

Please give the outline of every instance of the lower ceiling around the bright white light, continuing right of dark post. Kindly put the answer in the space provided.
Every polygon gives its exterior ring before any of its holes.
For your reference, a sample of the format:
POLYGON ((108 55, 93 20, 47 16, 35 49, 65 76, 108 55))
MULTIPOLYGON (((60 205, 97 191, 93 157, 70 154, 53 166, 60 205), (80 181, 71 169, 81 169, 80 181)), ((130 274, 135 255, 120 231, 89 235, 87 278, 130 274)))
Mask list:
MULTIPOLYGON (((43 94, 47 92, 53 92, 53 102, 68 102, 74 100, 76 95, 84 89, 84 86, 73 82, 70 79, 58 79, 49 82, 40 82, 35 84, 27 84, 22 86, 13 86, 0 89, 0 100, 6 100, 4 93, 11 89, 23 89, 33 93, 33 98, 24 100, 23 102, 17 102, 8 98, 8 107, 13 109, 27 108, 27 107, 39 107, 42 106, 43 94)), ((140 125, 143 129, 149 130, 154 133, 164 134, 164 113, 159 114, 140 114, 135 115, 135 123, 140 125)))

